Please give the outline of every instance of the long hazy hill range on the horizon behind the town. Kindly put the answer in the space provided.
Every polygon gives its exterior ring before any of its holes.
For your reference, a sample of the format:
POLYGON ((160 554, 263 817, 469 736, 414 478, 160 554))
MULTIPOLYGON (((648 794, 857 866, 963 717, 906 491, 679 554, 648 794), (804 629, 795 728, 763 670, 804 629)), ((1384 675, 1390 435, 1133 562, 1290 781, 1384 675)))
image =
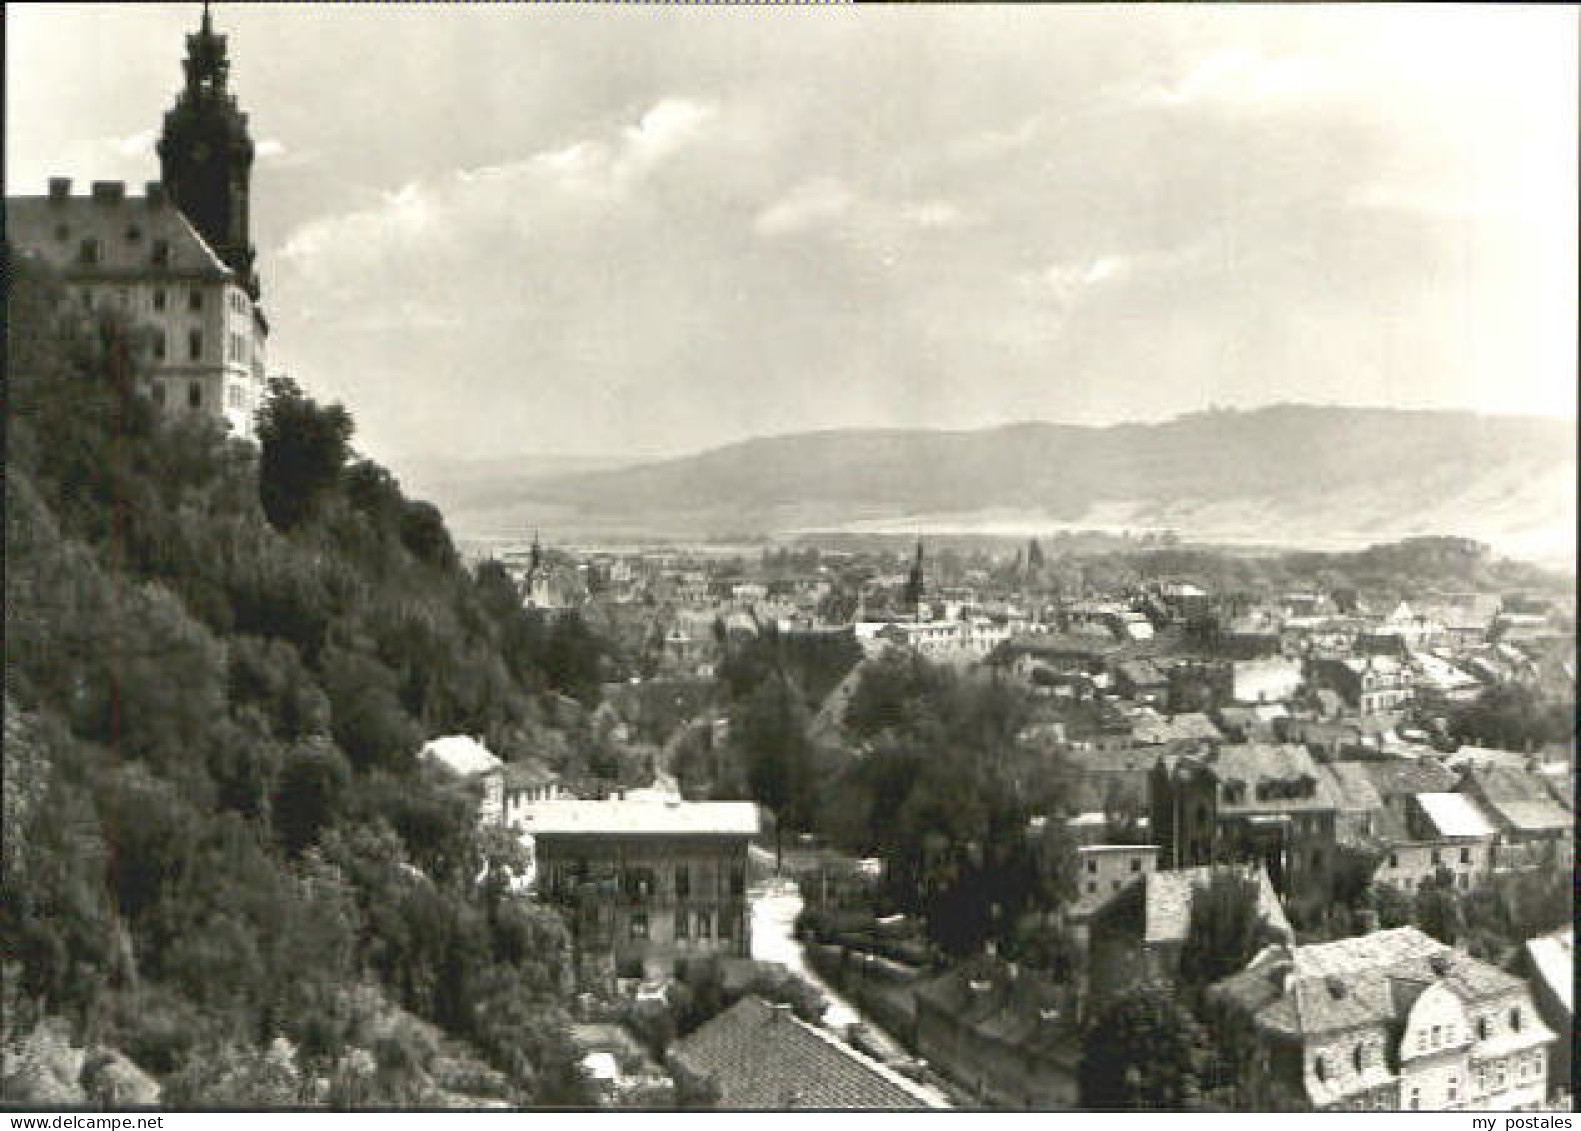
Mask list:
POLYGON ((1459 535, 1575 558, 1575 424, 1541 418, 1277 405, 1113 427, 809 432, 533 471, 451 481, 435 501, 468 535, 1094 528, 1317 549, 1459 535))

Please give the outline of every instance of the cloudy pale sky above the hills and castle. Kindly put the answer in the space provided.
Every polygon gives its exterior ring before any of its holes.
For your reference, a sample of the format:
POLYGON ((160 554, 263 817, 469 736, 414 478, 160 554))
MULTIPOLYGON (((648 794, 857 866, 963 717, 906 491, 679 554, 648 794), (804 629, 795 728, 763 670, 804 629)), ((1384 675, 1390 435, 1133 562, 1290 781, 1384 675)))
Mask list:
MULTIPOLYGON (((6 191, 190 5, 8 5, 6 191)), ((1576 413, 1573 6, 215 5, 270 370, 386 460, 1274 402, 1576 413)))

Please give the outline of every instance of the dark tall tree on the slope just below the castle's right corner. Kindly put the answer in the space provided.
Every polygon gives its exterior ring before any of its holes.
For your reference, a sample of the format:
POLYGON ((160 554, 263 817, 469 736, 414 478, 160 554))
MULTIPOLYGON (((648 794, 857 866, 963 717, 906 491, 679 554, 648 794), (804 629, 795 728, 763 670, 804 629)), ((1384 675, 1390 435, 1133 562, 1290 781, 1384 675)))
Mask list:
POLYGON ((319 405, 288 376, 269 381, 258 413, 258 498, 277 530, 299 527, 340 482, 354 426, 340 405, 319 405))

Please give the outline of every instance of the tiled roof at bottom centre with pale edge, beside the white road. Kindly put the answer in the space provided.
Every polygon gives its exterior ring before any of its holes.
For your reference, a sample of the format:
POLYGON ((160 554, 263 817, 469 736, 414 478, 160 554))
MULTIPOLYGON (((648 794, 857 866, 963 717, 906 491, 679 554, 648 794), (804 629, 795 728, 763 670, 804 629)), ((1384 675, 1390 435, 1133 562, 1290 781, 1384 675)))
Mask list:
POLYGON ((677 1042, 683 1069, 719 1087, 721 1107, 947 1107, 900 1072, 808 1025, 789 1008, 745 997, 677 1042))

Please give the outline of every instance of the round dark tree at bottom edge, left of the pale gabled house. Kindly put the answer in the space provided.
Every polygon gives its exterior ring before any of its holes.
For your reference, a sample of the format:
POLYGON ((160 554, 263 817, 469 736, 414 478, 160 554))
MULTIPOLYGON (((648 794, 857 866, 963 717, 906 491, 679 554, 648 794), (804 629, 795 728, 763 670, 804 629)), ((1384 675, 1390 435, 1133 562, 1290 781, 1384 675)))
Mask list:
POLYGON ((1206 1030, 1168 984, 1143 984, 1097 1016, 1077 1072, 1089 1110, 1198 1110, 1214 1084, 1206 1030))

